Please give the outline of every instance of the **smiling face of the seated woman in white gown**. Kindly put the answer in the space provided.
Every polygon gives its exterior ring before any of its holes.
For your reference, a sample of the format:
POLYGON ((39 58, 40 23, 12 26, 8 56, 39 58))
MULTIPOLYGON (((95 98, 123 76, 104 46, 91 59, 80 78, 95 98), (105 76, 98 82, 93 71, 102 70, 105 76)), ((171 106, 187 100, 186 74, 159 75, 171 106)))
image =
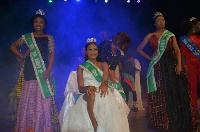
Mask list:
POLYGON ((88 56, 88 59, 96 59, 98 56, 97 45, 94 43, 89 44, 85 53, 88 56))

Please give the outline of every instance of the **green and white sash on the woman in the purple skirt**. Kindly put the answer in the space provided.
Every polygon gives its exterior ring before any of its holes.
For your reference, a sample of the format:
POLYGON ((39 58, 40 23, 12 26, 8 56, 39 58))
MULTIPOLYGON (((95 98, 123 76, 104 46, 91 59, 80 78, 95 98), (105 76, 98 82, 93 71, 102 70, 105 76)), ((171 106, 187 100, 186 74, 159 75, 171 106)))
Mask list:
POLYGON ((45 67, 43 58, 41 56, 40 50, 37 47, 33 33, 27 33, 23 35, 22 37, 31 51, 30 57, 31 57, 31 61, 33 64, 33 68, 35 71, 38 84, 41 89, 41 93, 44 98, 50 98, 51 96, 54 95, 55 89, 54 90, 52 89, 52 85, 50 84, 50 81, 48 79, 47 81, 43 81, 43 73, 46 70, 46 67, 45 67))

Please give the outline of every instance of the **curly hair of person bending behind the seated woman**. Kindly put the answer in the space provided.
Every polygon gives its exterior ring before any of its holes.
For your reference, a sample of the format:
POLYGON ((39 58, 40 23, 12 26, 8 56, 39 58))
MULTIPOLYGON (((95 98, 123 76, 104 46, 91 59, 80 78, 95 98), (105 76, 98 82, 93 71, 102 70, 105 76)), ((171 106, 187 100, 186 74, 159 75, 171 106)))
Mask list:
POLYGON ((113 44, 119 47, 121 50, 128 50, 130 44, 130 36, 125 32, 118 32, 112 37, 113 44))

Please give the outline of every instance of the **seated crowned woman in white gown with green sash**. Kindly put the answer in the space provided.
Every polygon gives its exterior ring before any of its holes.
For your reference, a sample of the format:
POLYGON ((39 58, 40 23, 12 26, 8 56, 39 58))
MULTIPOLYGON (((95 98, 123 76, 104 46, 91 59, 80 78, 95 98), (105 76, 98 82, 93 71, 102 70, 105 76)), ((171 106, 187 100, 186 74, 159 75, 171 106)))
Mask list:
MULTIPOLYGON (((75 101, 66 95, 59 117, 61 132, 130 132, 129 108, 122 92, 110 82, 108 64, 97 61, 98 48, 95 38, 87 39, 85 62, 77 68, 80 94, 75 101)), ((74 84, 76 86, 76 84, 74 84)))

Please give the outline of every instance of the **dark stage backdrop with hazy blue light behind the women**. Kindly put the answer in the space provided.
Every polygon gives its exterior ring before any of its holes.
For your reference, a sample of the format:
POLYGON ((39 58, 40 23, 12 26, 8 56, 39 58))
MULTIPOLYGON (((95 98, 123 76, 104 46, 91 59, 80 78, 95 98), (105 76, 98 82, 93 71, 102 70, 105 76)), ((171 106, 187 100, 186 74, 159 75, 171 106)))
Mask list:
MULTIPOLYGON (((194 16, 199 19, 200 6, 197 0, 1 0, 0 1, 0 131, 13 127, 7 119, 9 94, 14 87, 17 62, 9 51, 9 46, 22 34, 32 32, 31 16, 38 9, 43 9, 48 20, 46 33, 55 40, 56 59, 54 76, 57 94, 55 96, 58 110, 64 101, 64 89, 69 73, 75 70, 73 63, 80 56, 81 47, 89 37, 97 38, 99 33, 107 30, 110 36, 117 32, 127 32, 131 37, 129 52, 137 58, 142 66, 141 85, 143 98, 146 92, 146 71, 148 61, 137 54, 136 48, 144 36, 154 31, 153 14, 161 12, 166 20, 166 28, 177 39, 180 36, 182 20, 194 16)), ((146 52, 151 53, 148 47, 146 52)))

